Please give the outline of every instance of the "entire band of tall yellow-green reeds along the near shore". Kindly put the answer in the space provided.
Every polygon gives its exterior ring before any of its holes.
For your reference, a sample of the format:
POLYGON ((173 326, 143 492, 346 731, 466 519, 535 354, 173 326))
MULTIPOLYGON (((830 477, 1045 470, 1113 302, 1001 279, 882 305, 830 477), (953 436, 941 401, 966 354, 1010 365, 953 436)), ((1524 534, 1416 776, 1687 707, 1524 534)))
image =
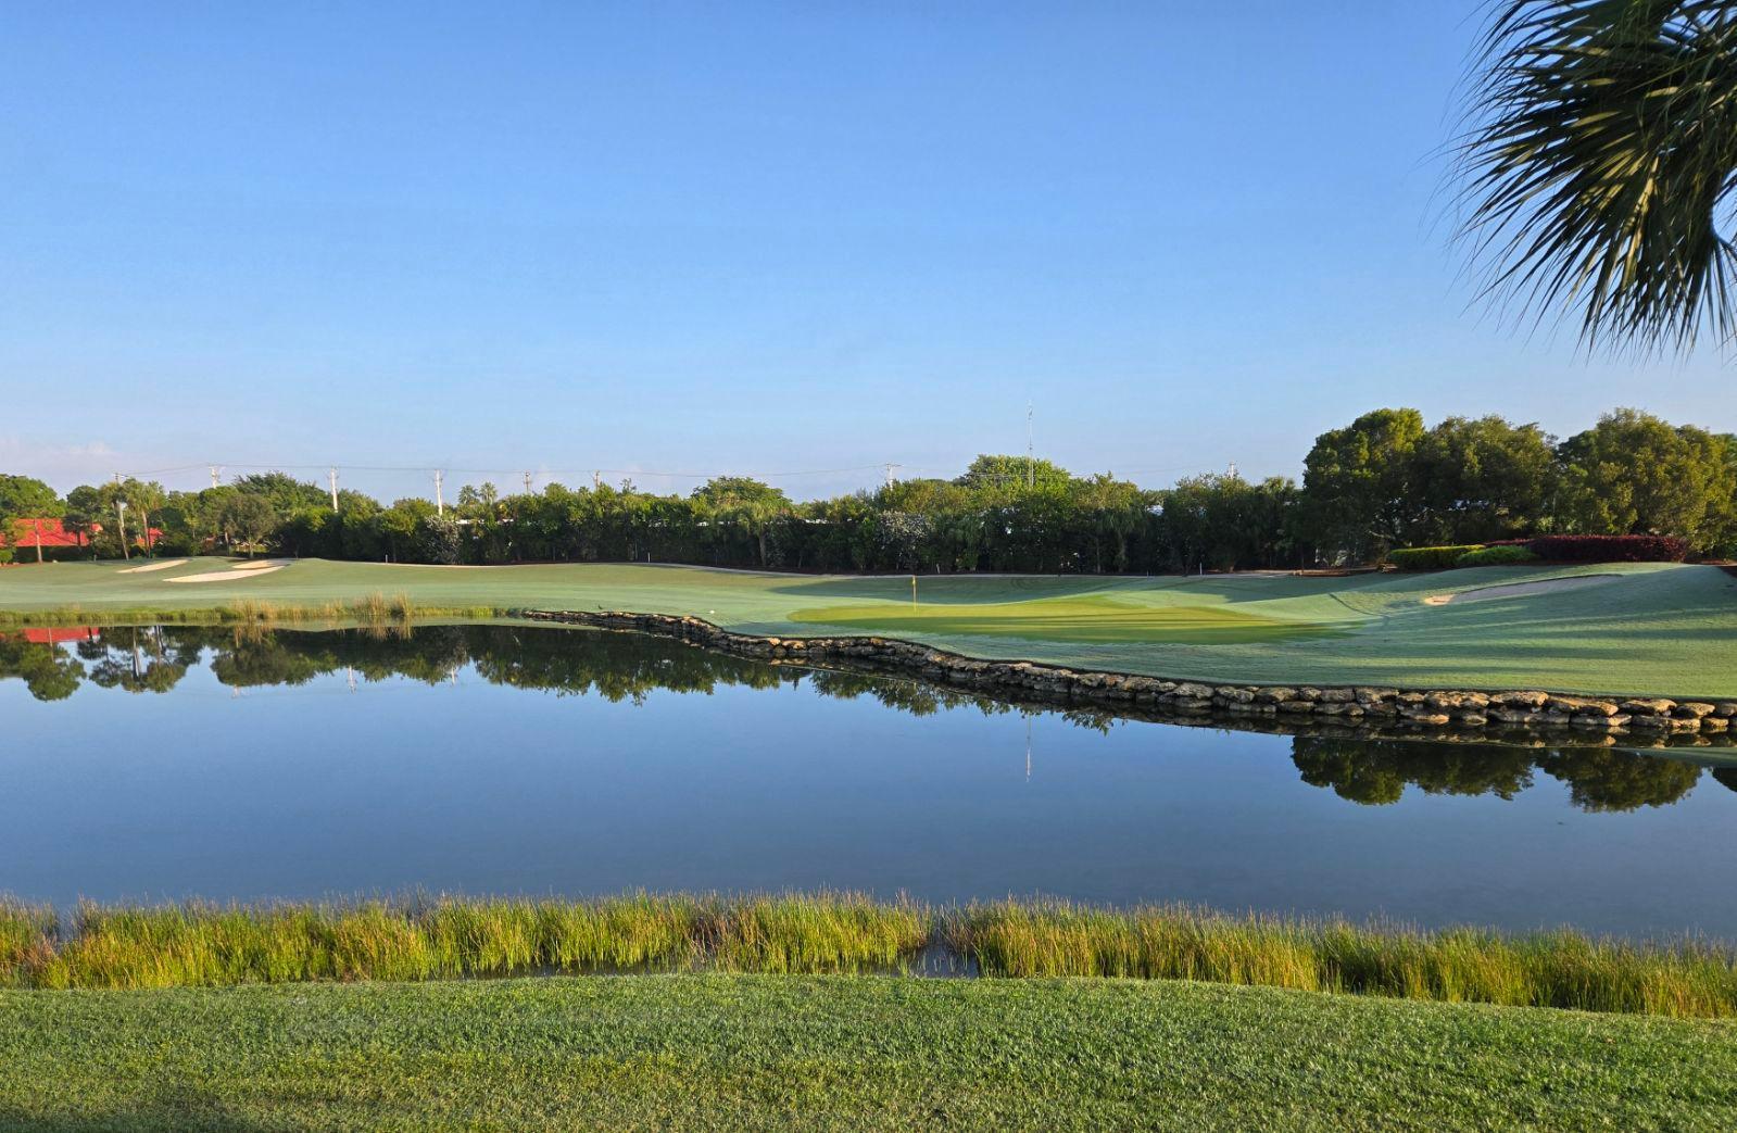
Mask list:
POLYGON ((935 907, 862 895, 0 905, 0 987, 148 989, 526 973, 888 973, 1197 980, 1438 1003, 1737 1017, 1737 951, 1181 905, 935 907))

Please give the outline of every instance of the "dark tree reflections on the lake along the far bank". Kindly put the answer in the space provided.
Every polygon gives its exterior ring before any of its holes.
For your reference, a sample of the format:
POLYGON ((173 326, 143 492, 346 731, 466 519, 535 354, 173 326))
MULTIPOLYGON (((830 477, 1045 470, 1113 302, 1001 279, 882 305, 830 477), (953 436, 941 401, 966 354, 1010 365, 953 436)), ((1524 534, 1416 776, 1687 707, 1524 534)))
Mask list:
MULTIPOLYGON (((657 690, 712 693, 719 688, 806 685, 829 699, 874 700, 910 716, 976 709, 987 716, 1023 711, 1002 700, 908 679, 775 666, 712 653, 660 638, 521 626, 427 626, 347 631, 262 631, 254 627, 151 626, 122 629, 33 629, 0 636, 0 679, 23 681, 38 700, 64 700, 85 681, 127 693, 167 693, 205 664, 233 690, 301 686, 344 673, 349 686, 408 678, 426 685, 469 667, 492 685, 594 695, 643 704, 657 690)), ((1106 733, 1115 716, 1053 711, 1106 733)), ((1030 777, 1027 744, 1027 777, 1030 777)), ((1291 759, 1304 784, 1365 805, 1398 803, 1407 787, 1426 794, 1513 799, 1542 772, 1570 789, 1584 812, 1668 806, 1699 782, 1685 759, 1615 747, 1504 747, 1476 742, 1292 735, 1291 759)), ((1737 768, 1713 779, 1737 791, 1737 768)))

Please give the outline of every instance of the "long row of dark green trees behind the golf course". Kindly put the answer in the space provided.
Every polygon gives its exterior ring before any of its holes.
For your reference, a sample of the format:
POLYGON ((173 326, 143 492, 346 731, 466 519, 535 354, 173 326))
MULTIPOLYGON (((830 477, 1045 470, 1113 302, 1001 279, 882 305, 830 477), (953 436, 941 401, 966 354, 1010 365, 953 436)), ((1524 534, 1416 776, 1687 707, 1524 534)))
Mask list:
MULTIPOLYGON (((624 481, 502 494, 466 485, 382 504, 285 473, 200 492, 118 480, 64 499, 0 476, 0 520, 57 516, 66 556, 276 553, 405 563, 669 561, 808 572, 1186 573, 1381 561, 1405 546, 1551 533, 1685 539, 1737 556, 1737 436, 1615 410, 1556 440, 1537 424, 1412 408, 1315 440, 1303 480, 1235 473, 1141 488, 1042 459, 983 455, 952 480, 792 500, 747 476, 688 495, 624 481)), ((7 530, 10 525, 0 527, 7 530)), ((10 551, 28 560, 28 535, 10 551)))

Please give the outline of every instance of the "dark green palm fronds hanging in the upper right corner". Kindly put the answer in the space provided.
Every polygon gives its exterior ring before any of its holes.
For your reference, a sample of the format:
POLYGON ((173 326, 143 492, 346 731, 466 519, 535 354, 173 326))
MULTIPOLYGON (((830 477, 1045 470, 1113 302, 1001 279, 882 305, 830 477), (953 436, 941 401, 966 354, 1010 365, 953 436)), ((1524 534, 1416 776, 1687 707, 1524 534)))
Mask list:
POLYGON ((1503 309, 1588 346, 1737 334, 1737 0, 1503 0, 1457 148, 1459 226, 1503 309))

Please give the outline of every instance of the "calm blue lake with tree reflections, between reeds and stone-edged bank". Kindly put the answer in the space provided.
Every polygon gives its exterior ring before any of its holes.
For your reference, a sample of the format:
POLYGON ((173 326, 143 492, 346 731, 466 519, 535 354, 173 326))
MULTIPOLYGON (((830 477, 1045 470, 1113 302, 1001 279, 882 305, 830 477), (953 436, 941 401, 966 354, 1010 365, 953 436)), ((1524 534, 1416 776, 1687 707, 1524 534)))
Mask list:
POLYGON ((1737 772, 1117 721, 591 631, 0 639, 0 891, 1060 895, 1737 938, 1737 772))

